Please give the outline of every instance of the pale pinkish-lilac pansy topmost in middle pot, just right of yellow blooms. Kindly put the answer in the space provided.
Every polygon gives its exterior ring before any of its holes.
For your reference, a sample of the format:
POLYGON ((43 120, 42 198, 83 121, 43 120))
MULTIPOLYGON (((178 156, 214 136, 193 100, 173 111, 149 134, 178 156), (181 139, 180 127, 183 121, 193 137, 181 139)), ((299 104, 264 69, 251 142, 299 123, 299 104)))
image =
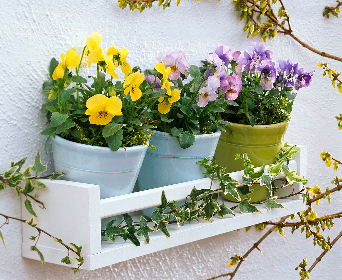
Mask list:
POLYGON ((186 71, 186 67, 190 67, 190 64, 185 58, 184 52, 172 52, 162 58, 165 67, 170 67, 171 72, 169 79, 175 81, 179 78, 179 74, 186 71))

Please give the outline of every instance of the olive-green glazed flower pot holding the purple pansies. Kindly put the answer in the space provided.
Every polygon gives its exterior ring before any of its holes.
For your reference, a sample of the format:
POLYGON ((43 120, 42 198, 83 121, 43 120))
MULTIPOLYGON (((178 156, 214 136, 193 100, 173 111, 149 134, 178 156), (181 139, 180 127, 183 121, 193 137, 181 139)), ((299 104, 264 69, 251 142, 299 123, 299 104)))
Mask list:
MULTIPOLYGON (((281 149, 289 121, 271 125, 233 123, 226 132, 222 132, 215 151, 215 160, 220 166, 227 166, 226 172, 244 170, 242 160, 235 160, 235 154, 247 153, 255 167, 275 162, 275 156, 281 149)), ((243 195, 251 198, 250 202, 260 201, 268 195, 265 186, 253 185, 253 193, 243 195)), ((222 194, 223 195, 223 194, 222 194)), ((230 194, 223 195, 228 200, 237 201, 230 194)))

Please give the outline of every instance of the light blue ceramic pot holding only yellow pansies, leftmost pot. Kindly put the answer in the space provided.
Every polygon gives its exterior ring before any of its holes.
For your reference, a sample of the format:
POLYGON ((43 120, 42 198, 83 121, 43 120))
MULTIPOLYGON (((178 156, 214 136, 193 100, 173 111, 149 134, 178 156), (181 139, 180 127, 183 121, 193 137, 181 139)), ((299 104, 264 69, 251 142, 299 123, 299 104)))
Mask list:
MULTIPOLYGON (((80 144, 60 136, 51 139, 55 171, 67 173, 61 179, 100 185, 100 199, 133 191, 146 145, 112 151, 109 147, 80 144)), ((102 219, 101 229, 113 219, 118 223, 123 220, 122 215, 102 219)))

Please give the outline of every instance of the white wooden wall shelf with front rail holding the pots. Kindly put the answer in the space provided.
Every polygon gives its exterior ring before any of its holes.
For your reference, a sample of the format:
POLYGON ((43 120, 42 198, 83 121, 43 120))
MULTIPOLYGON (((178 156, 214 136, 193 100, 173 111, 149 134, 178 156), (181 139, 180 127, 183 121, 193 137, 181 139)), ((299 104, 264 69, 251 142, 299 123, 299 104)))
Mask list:
MULTIPOLYGON (((297 170, 299 176, 306 176, 306 147, 297 146, 297 148, 301 152, 293 155, 293 160, 289 162, 289 167, 290 170, 297 170)), ((267 167, 265 170, 267 170, 267 167)), ((242 173, 243 171, 232 172, 231 176, 239 181, 241 180, 242 173)), ((38 218, 36 218, 36 221, 39 223, 38 226, 47 230, 50 234, 61 238, 64 243, 72 242, 78 246, 83 246, 82 256, 84 264, 80 268, 86 270, 94 270, 116 264, 185 243, 277 219, 305 209, 300 195, 279 201, 287 209, 267 211, 265 206, 261 204, 257 205, 257 207, 262 211, 262 214, 241 214, 238 208, 236 208, 234 210, 235 216, 227 215, 224 219, 214 217, 212 223, 185 223, 179 229, 176 229, 176 224, 171 224, 168 226, 170 238, 163 235, 160 231, 153 232, 150 234, 149 244, 146 244, 144 239, 140 239, 141 246, 137 247, 129 240, 124 241, 120 237, 116 238, 115 244, 109 240, 101 241, 101 218, 157 206, 160 204, 162 190, 165 190, 168 200, 184 200, 193 186, 196 186, 197 189, 210 188, 211 179, 204 178, 106 199, 100 199, 100 187, 98 185, 64 180, 51 181, 47 179, 43 181, 48 185, 48 189, 35 189, 39 199, 46 206, 46 209, 35 207, 38 214, 38 218)), ((212 188, 218 187, 218 181, 214 180, 212 188)), ((298 192, 301 189, 302 184, 295 183, 294 192, 298 192)), ((292 187, 281 188, 278 190, 278 197, 289 195, 292 191, 292 187)), ((226 204, 228 207, 236 205, 235 202, 229 201, 226 201, 226 204)), ((25 206, 22 205, 23 219, 29 220, 30 216, 25 206)), ((134 221, 139 221, 140 213, 133 213, 132 218, 134 221)), ((150 226, 153 227, 153 224, 151 223, 150 226)), ((30 246, 34 244, 32 240, 29 240, 29 237, 36 235, 36 229, 23 225, 23 256, 39 260, 37 252, 29 251, 30 246)), ((61 259, 67 255, 66 250, 61 244, 54 242, 52 238, 45 234, 41 234, 37 247, 43 253, 45 262, 61 265, 61 259)), ((75 259, 75 256, 74 253, 70 253, 71 258, 75 259)), ((73 264, 68 266, 73 267, 73 264)))

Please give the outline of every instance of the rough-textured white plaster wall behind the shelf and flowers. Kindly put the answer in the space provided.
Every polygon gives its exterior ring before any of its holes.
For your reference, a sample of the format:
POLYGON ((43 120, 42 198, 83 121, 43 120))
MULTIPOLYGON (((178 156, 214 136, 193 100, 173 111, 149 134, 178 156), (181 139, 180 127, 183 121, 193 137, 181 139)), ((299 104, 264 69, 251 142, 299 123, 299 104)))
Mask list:
MULTIPOLYGON (((0 170, 7 168, 12 159, 28 156, 32 160, 36 149, 43 151, 45 137, 40 131, 47 127, 47 122, 40 109, 45 101, 41 85, 48 78, 49 61, 53 56, 59 58, 70 47, 80 50, 90 33, 100 32, 105 47, 110 43, 127 47, 131 65, 141 68, 152 67, 156 62, 154 56, 160 51, 184 50, 190 64, 199 65, 199 60, 213 51, 216 43, 238 50, 245 47, 248 39, 242 33, 244 23, 239 21, 231 0, 183 0, 177 8, 175 0, 172 2, 166 11, 156 6, 139 13, 119 9, 115 0, 2 1, 0 170)), ((295 34, 320 50, 342 56, 341 19, 325 19, 321 15, 324 6, 334 5, 335 1, 284 2, 295 34), (330 33, 335 34, 334 39, 330 33)), ((342 97, 331 87, 328 78, 321 76, 316 65, 327 61, 331 68, 341 71, 342 64, 313 54, 282 34, 269 40, 266 46, 274 51, 275 59, 289 56, 308 71, 316 69, 311 86, 298 94, 286 140, 307 145, 309 185, 330 187, 336 172, 327 170, 319 155, 325 150, 342 158, 341 132, 334 119, 341 112, 342 97)), ((42 153, 42 157, 51 168, 50 144, 48 149, 49 155, 42 153)), ((338 194, 333 195, 330 205, 321 203, 318 214, 340 211, 339 202, 338 194)), ((1 192, 0 212, 20 215, 19 199, 13 192, 1 192)), ((331 237, 337 235, 341 225, 336 223, 331 237)), ((254 228, 222 234, 74 276, 65 267, 52 264, 43 267, 38 261, 22 258, 21 226, 11 221, 1 228, 10 253, 0 248, 0 279, 206 279, 231 271, 227 267, 229 257, 244 254, 263 234, 254 228)), ((314 248, 311 239, 306 240, 300 233, 291 235, 285 230, 285 234, 282 238, 274 233, 264 241, 260 246, 263 254, 253 252, 236 279, 298 279, 294 267, 304 257, 309 264, 313 263, 321 249, 314 248)), ((317 265, 311 278, 341 279, 341 249, 341 243, 337 243, 317 265)))

